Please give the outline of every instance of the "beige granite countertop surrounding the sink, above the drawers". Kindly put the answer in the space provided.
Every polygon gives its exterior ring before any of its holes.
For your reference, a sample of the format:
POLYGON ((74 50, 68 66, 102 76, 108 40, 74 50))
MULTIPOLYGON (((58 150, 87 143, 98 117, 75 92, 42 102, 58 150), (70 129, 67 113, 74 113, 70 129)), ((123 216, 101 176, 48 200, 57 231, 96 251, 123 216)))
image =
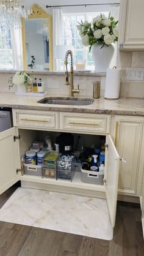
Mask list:
MULTIPOLYGON (((56 95, 54 97, 56 97, 56 95)), ((42 97, 15 96, 13 92, 1 92, 0 107, 12 107, 27 110, 144 116, 144 99, 120 98, 117 100, 108 100, 101 97, 99 99, 95 99, 93 104, 86 106, 53 104, 47 105, 37 103, 37 101, 40 99, 42 99, 42 97)))

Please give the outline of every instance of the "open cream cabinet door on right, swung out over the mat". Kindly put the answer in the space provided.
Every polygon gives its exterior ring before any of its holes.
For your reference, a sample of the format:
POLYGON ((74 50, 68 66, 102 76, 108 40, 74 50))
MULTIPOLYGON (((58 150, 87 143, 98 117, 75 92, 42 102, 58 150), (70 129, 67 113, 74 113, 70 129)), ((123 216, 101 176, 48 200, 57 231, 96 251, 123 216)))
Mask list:
POLYGON ((112 141, 110 135, 107 135, 106 144, 106 167, 107 167, 107 177, 106 177, 106 198, 107 206, 109 208, 109 215, 112 227, 115 226, 115 217, 117 210, 117 193, 118 193, 118 176, 119 176, 119 165, 120 157, 118 155, 117 149, 112 141))

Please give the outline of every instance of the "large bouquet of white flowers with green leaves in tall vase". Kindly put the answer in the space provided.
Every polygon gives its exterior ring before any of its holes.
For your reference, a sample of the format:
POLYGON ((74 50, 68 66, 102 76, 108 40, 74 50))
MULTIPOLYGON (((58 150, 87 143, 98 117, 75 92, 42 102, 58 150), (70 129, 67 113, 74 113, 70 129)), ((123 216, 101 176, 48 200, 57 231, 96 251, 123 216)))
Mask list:
POLYGON ((101 48, 104 45, 109 45, 111 43, 115 43, 118 40, 118 21, 110 16, 107 18, 104 14, 100 14, 93 18, 92 23, 88 23, 88 21, 81 21, 79 25, 77 25, 77 29, 79 30, 79 34, 82 39, 82 45, 88 46, 90 45, 89 51, 92 48, 92 45, 101 45, 101 48))

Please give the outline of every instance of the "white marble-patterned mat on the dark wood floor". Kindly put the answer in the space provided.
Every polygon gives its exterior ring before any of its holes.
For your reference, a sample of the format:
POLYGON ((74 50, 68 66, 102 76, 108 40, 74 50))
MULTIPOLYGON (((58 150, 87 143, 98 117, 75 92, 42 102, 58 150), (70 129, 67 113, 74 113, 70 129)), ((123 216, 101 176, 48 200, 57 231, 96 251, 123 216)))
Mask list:
POLYGON ((19 187, 0 209, 0 220, 110 240, 105 199, 19 187))

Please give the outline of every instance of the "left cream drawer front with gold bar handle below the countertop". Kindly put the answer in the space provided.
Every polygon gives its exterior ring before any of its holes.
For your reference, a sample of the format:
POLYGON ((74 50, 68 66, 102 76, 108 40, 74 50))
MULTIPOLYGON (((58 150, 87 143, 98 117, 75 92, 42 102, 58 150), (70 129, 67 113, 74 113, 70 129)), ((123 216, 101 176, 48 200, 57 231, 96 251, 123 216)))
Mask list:
POLYGON ((35 110, 13 110, 13 125, 59 129, 59 113, 35 110))

